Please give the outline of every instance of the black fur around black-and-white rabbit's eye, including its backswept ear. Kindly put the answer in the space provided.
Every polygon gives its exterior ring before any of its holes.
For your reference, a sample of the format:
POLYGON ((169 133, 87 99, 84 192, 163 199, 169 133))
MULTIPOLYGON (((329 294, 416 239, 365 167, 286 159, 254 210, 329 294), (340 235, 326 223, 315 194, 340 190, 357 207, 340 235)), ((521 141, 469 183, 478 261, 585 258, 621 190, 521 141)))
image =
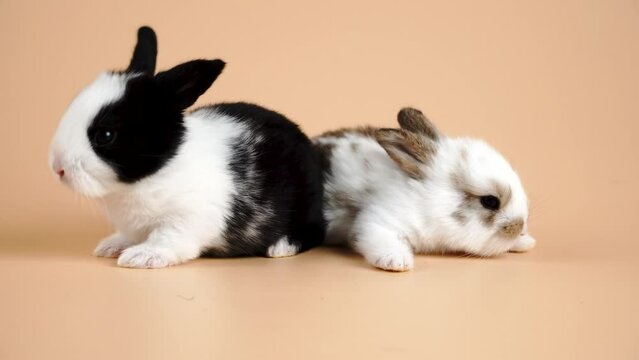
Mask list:
POLYGON ((193 60, 156 76, 129 79, 122 98, 104 106, 89 126, 87 135, 96 154, 122 182, 158 171, 182 143, 182 112, 213 84, 224 65, 219 59, 193 60), (100 141, 105 131, 114 135, 113 141, 100 141))

